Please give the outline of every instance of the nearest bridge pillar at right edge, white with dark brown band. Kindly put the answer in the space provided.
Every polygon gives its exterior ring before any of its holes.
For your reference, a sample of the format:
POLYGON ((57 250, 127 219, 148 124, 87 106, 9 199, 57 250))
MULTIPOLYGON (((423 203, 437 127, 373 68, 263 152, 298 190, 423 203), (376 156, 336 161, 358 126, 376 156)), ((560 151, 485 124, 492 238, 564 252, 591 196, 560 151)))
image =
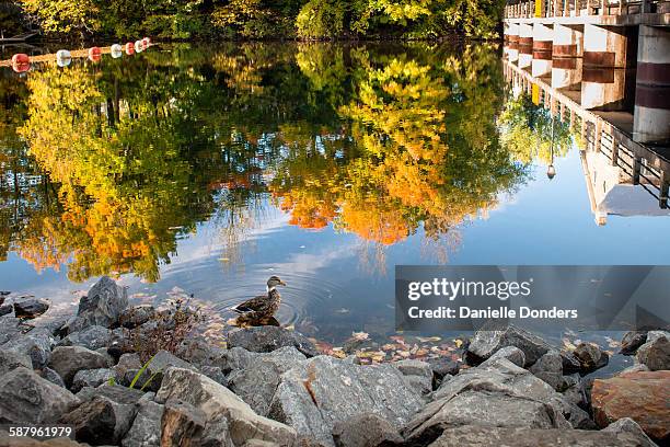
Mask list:
POLYGON ((639 26, 633 139, 670 139, 670 30, 639 26))

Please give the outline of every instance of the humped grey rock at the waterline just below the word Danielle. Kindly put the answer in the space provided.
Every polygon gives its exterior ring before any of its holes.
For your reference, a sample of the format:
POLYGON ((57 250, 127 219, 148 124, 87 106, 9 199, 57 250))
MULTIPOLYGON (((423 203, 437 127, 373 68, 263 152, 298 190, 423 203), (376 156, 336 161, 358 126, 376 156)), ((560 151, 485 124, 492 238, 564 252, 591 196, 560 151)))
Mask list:
POLYGON ((538 335, 531 334, 512 324, 503 330, 489 330, 494 325, 484 326, 478 330, 470 345, 467 353, 470 357, 485 360, 494 355, 497 351, 506 346, 516 346, 521 349, 525 356, 525 365, 531 366, 540 357, 542 357, 552 347, 538 335))

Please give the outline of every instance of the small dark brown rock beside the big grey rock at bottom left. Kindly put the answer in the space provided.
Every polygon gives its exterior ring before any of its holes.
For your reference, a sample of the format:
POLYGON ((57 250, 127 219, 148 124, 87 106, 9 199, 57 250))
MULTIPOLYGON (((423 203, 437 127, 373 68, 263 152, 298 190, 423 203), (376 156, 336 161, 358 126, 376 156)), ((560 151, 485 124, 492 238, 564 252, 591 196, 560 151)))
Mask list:
POLYGON ((118 445, 130 428, 136 408, 95 396, 65 414, 60 423, 73 425, 77 440, 93 445, 118 445))

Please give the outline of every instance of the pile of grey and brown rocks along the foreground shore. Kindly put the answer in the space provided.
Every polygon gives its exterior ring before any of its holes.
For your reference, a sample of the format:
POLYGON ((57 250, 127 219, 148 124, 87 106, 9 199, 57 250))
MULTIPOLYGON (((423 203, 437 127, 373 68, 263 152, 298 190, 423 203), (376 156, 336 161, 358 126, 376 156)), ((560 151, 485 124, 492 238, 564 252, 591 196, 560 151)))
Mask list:
MULTIPOLYGON (((228 348, 187 339, 142 364, 128 331, 151 325, 154 312, 128 307, 126 291, 102 278, 59 326, 22 333, 14 316, 0 317, 0 422, 72 425, 77 443, 67 446, 668 440, 667 408, 655 410, 670 401, 669 371, 658 369, 667 333, 645 334, 635 349, 650 370, 596 380, 590 391, 580 373, 602 366, 607 354, 592 345, 561 352, 513 326, 477 332, 469 367, 451 359, 359 365, 355 356, 319 355, 304 336, 275 326, 240 330, 228 348)), ((5 439, 0 432, 0 445, 5 439)))

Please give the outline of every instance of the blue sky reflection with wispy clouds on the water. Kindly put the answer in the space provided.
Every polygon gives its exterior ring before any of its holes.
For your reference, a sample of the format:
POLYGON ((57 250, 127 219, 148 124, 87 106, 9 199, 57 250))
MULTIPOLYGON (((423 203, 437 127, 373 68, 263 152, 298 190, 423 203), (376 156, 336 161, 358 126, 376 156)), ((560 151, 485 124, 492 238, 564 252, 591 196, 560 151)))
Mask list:
MULTIPOLYGON (((538 165, 534 180, 513 196, 501 197, 487 218, 464 225, 458 245, 449 252, 453 264, 667 264, 670 240, 660 238, 668 217, 610 217, 599 227, 590 210, 579 153, 571 150, 555 162, 557 175, 548 181, 538 165)), ((288 216, 270 209, 249 231, 239 248, 242 262, 222 260, 220 228, 209 221, 196 234, 178 241, 177 255, 161 270, 158 284, 143 284, 131 275, 123 283, 130 293, 158 294, 180 287, 211 301, 217 309, 261 294, 272 274, 289 287, 281 290, 282 323, 324 339, 342 339, 351 331, 370 333, 393 329, 393 267, 396 264, 435 264, 436 244, 420 231, 377 252, 355 234, 332 226, 305 231, 288 225, 288 216), (229 266, 230 265, 230 266, 229 266), (384 272, 385 270, 385 272, 384 272)), ((444 242, 441 242, 444 243, 444 242)), ((10 253, 0 263, 1 289, 73 301, 73 288, 94 283, 69 283, 65 272, 35 274, 32 265, 10 253)))

